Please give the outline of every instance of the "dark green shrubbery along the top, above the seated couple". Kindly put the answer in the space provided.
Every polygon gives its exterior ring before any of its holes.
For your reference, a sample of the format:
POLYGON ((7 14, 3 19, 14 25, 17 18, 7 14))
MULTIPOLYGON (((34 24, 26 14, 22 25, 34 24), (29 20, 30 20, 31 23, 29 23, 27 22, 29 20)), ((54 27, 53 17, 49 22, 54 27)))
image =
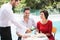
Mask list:
POLYGON ((31 9, 45 9, 49 6, 55 7, 56 4, 60 0, 26 0, 26 6, 30 7, 31 9))

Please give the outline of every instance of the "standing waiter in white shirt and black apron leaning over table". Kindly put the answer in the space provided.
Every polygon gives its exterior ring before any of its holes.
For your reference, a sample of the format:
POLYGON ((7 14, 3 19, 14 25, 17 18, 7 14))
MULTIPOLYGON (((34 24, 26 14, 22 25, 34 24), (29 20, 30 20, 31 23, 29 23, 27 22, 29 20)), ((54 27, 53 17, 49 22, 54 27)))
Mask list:
MULTIPOLYGON (((15 7, 19 4, 19 0, 10 0, 9 3, 3 4, 0 9, 0 35, 1 40, 12 40, 11 29, 9 22, 12 22, 14 25, 22 28, 20 23, 17 23, 14 20, 12 7, 15 7)), ((24 30, 27 30, 25 27, 24 30)), ((24 31, 25 32, 25 31, 24 31)))

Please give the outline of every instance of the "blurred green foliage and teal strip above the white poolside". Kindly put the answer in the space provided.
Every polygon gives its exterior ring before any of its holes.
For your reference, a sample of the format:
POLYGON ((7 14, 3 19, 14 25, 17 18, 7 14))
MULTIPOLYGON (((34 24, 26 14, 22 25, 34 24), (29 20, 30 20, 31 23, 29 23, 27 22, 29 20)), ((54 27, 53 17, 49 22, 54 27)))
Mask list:
MULTIPOLYGON (((0 7, 7 2, 9 0, 0 0, 0 7)), ((21 0, 16 8, 13 7, 13 11, 20 13, 24 7, 30 7, 34 15, 39 15, 38 11, 43 9, 48 10, 50 14, 60 14, 60 0, 21 0)))

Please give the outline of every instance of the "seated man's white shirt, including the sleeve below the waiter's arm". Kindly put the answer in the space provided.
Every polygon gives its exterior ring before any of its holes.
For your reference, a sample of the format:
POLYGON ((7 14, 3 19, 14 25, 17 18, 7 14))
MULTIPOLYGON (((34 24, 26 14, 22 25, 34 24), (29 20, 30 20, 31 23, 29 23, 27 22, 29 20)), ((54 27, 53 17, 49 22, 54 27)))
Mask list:
MULTIPOLYGON (((20 24, 21 24, 21 26, 22 26, 23 28, 26 27, 26 28, 31 29, 32 26, 33 26, 33 27, 36 27, 35 22, 34 22, 34 20, 33 20, 32 18, 29 18, 28 23, 24 22, 24 19, 21 18, 20 24)), ((22 33, 23 35, 25 35, 26 33, 23 33, 24 30, 25 30, 25 29, 20 29, 19 27, 17 27, 17 32, 18 32, 19 34, 22 33)))

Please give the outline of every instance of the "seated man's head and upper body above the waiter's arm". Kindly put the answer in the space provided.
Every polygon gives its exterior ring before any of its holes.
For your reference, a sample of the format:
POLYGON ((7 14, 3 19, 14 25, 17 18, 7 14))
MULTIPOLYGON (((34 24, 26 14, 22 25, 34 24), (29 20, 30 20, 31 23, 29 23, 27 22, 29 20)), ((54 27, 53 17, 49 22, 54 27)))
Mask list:
POLYGON ((32 26, 36 27, 34 19, 30 18, 30 8, 29 7, 26 7, 24 9, 24 16, 26 16, 27 20, 25 21, 25 19, 23 18, 23 20, 21 22, 22 24, 24 24, 27 28, 30 28, 30 29, 32 28, 32 26))

